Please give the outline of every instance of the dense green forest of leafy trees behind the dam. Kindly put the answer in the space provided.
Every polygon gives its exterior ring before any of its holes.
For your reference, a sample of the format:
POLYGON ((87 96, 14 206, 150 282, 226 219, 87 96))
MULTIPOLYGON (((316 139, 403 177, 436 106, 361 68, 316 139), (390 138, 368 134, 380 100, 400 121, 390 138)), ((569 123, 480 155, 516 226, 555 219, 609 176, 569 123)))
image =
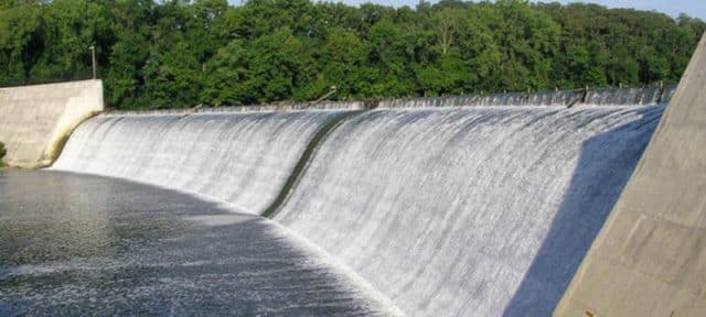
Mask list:
POLYGON ((90 78, 92 45, 118 109, 674 84, 705 30, 522 0, 0 0, 0 86, 90 78))

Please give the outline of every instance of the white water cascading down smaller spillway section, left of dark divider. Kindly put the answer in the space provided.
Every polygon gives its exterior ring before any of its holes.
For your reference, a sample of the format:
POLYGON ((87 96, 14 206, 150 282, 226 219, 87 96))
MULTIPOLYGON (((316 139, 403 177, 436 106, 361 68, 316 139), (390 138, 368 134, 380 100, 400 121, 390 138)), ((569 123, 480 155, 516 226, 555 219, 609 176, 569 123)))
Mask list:
POLYGON ((340 111, 99 116, 52 166, 212 196, 258 214, 340 111))

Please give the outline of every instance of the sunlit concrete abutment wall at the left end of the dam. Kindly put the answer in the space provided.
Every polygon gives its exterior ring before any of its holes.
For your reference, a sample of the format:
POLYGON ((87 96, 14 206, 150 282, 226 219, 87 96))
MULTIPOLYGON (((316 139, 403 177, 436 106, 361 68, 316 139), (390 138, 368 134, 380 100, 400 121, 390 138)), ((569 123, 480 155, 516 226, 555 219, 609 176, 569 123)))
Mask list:
POLYGON ((0 88, 0 142, 17 167, 51 165, 71 131, 101 111, 100 80, 0 88))

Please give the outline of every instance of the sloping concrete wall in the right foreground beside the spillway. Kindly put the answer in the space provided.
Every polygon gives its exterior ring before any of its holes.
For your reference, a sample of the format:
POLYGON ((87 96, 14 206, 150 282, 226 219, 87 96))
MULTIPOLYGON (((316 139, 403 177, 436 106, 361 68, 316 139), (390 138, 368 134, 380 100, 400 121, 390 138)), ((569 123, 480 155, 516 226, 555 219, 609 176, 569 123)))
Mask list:
POLYGON ((704 316, 706 35, 556 316, 704 316))

